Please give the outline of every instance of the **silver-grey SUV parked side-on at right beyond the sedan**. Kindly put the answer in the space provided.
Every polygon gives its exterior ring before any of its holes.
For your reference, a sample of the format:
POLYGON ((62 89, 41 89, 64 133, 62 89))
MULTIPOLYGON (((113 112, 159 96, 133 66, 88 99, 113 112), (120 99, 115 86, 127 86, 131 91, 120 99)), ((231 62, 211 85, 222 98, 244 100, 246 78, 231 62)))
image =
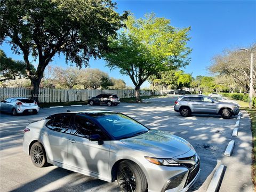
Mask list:
POLYGON ((239 113, 239 106, 234 103, 220 102, 205 95, 184 95, 174 102, 174 110, 187 117, 193 113, 221 115, 228 119, 239 113))

